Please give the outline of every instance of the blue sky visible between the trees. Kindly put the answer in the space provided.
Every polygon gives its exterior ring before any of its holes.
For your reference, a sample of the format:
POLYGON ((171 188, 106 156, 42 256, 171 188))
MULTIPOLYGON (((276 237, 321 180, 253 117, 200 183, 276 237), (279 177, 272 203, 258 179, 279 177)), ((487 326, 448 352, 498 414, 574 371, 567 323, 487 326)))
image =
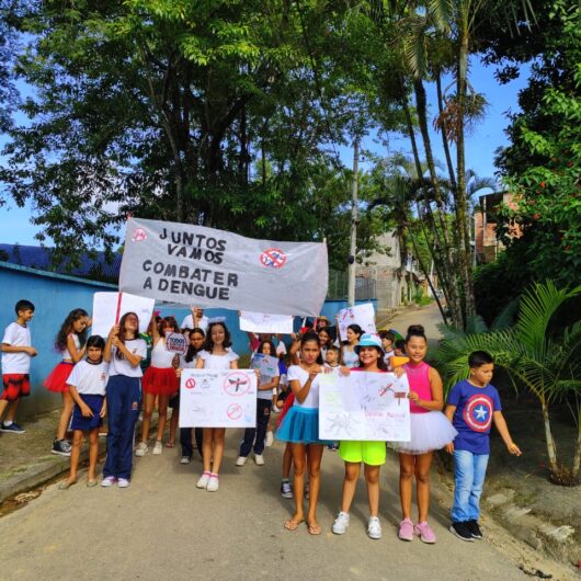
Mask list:
MULTIPOLYGON (((481 178, 492 178, 494 175, 494 151, 497 148, 508 144, 506 135, 504 134, 504 128, 509 124, 506 114, 519 111, 517 93, 526 87, 527 77, 528 69, 525 69, 519 79, 500 86, 494 79, 493 67, 485 67, 476 60, 472 62, 470 69, 471 86, 475 91, 485 94, 489 106, 486 118, 467 136, 466 167, 475 170, 481 178)), ((443 86, 445 87, 446 82, 443 86)), ((429 102, 433 111, 436 106, 434 87, 429 88, 429 102)), ((2 141, 0 140, 1 144, 2 141)), ((438 135, 433 135, 433 145, 436 158, 444 160, 444 155, 440 148, 441 138, 438 135)), ((390 139, 388 149, 375 143, 373 137, 364 139, 362 148, 369 149, 380 156, 387 156, 395 151, 406 153, 410 151, 409 141, 397 136, 390 139)), ((340 153, 343 162, 351 166, 353 153, 346 148, 341 148, 340 153)), ((365 164, 363 163, 362 169, 364 168, 365 164)), ((0 242, 37 244, 38 242, 34 240, 34 235, 38 231, 38 228, 31 225, 31 216, 32 209, 30 205, 19 208, 9 201, 5 205, 0 206, 0 224, 2 225, 0 242)))

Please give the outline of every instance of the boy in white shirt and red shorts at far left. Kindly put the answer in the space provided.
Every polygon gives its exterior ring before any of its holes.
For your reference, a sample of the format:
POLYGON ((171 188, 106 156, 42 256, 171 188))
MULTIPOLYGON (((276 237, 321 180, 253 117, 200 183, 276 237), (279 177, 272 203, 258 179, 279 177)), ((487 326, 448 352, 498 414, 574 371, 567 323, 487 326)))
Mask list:
POLYGON ((31 392, 31 357, 37 351, 31 345, 31 330, 27 323, 34 316, 34 305, 30 300, 19 300, 14 307, 15 322, 4 330, 2 338, 2 384, 0 398, 0 420, 5 412, 5 420, 0 423, 0 432, 23 434, 24 430, 14 421, 21 397, 31 392))

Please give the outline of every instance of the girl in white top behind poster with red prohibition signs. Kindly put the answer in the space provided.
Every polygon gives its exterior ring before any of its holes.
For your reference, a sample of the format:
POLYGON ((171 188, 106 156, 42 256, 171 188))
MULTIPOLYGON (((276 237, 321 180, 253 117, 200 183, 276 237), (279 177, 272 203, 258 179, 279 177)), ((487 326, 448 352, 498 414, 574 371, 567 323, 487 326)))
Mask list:
MULTIPOLYGON (((223 322, 213 322, 208 327, 204 349, 197 354, 196 369, 238 369, 239 356, 231 351, 230 332, 223 322)), ((202 456, 204 471, 196 482, 197 488, 216 492, 219 487, 219 470, 224 457, 224 437, 226 428, 204 428, 202 456), (214 465, 210 470, 212 462, 214 465)))

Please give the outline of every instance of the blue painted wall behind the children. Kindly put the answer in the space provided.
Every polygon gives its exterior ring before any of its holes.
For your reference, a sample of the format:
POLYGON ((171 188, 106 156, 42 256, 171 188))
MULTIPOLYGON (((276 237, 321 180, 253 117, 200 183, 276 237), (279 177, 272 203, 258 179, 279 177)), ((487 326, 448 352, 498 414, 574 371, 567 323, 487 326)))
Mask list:
MULTIPOLYGON (((36 271, 0 262, 0 331, 15 320, 14 305, 21 298, 31 300, 36 310, 31 322, 33 346, 38 355, 32 360, 31 384, 32 391, 19 407, 19 417, 25 418, 60 406, 60 396, 52 394, 43 387, 45 377, 60 361, 59 353, 54 348, 55 335, 60 329, 67 315, 75 308, 83 308, 91 314, 93 294, 98 292, 116 292, 110 284, 86 281, 73 276, 64 276, 44 271, 36 271)), ((377 308, 377 301, 372 301, 377 308)), ((324 303, 321 315, 333 321, 338 310, 348 306, 346 300, 329 300, 324 303)), ((174 316, 181 323, 190 311, 187 308, 161 306, 163 317, 174 316)), ((239 354, 248 353, 247 333, 238 327, 238 312, 226 309, 205 309, 209 317, 225 317, 226 324, 232 334, 233 350, 239 354)), ((300 327, 300 318, 295 319, 295 327, 300 327)))

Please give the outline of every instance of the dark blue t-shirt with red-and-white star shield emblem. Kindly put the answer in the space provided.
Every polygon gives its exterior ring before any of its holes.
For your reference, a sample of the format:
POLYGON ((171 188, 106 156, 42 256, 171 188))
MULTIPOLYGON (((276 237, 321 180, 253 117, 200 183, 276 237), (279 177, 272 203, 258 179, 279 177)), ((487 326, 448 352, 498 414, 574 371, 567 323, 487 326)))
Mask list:
POLYGON ((497 388, 490 384, 476 387, 464 379, 452 388, 448 405, 456 407, 452 419, 452 424, 458 431, 454 448, 472 454, 490 454, 492 414, 502 410, 497 388))

